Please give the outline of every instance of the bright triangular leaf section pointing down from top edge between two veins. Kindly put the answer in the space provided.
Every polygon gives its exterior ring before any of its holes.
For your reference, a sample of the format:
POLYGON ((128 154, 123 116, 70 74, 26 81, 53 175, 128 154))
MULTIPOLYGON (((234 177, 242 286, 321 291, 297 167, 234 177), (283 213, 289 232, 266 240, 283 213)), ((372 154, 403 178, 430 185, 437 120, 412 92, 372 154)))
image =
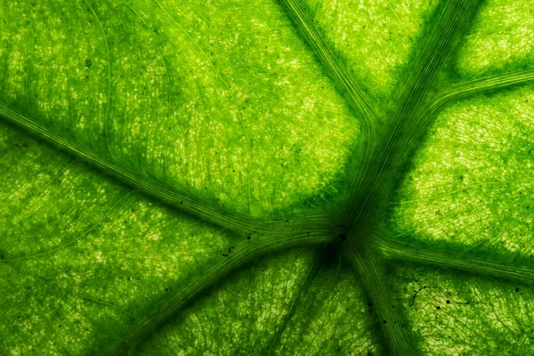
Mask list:
POLYGON ((355 82, 391 100, 394 85, 437 1, 306 0, 312 19, 339 53, 355 82))

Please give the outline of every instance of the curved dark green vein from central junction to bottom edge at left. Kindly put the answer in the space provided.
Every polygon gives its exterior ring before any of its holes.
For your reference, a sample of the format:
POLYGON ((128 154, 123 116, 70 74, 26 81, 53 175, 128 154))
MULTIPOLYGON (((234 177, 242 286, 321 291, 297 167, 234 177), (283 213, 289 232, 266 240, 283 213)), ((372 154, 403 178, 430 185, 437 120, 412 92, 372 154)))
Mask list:
POLYGON ((140 320, 133 328, 127 330, 123 336, 106 346, 101 352, 98 352, 98 355, 115 355, 132 348, 136 342, 142 340, 142 336, 174 315, 175 312, 178 312, 192 298, 204 291, 206 287, 212 286, 235 268, 259 255, 289 247, 325 244, 328 241, 330 241, 330 237, 324 234, 298 235, 285 239, 245 240, 230 255, 216 263, 201 277, 195 279, 189 286, 183 288, 143 320, 140 320))

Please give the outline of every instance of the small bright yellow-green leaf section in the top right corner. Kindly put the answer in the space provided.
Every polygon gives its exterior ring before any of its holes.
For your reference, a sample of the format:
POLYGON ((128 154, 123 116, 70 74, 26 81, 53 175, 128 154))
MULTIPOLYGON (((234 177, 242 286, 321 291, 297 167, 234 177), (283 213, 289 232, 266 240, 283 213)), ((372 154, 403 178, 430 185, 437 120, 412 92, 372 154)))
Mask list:
POLYGON ((529 1, 488 0, 459 52, 465 77, 534 64, 534 7, 529 1))

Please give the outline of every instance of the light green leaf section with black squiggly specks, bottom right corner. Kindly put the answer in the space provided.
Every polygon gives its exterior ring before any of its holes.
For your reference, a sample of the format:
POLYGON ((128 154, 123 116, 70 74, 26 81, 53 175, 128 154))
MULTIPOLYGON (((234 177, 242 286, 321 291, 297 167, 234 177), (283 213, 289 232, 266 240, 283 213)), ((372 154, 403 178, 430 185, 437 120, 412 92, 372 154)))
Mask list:
POLYGON ((532 286, 420 267, 399 267, 393 279, 421 354, 534 352, 532 286))

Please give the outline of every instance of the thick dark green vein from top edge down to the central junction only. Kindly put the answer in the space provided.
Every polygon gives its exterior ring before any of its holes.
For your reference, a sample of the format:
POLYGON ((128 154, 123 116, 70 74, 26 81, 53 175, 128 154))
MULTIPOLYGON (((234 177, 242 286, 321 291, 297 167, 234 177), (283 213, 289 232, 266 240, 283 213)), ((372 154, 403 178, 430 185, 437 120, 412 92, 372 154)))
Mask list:
POLYGON ((424 133, 430 123, 420 125, 417 113, 430 93, 438 71, 441 69, 455 38, 463 33, 479 7, 481 0, 454 0, 438 8, 438 18, 433 27, 414 69, 401 93, 398 104, 386 120, 390 125, 385 129, 384 141, 376 146, 372 161, 376 168, 369 170, 364 176, 364 182, 352 182, 350 188, 350 202, 347 214, 347 229, 357 225, 360 219, 368 219, 371 208, 378 204, 380 199, 386 198, 392 189, 392 178, 401 169, 401 154, 406 150, 412 153, 417 147, 406 147, 407 142, 417 140, 414 134, 424 133), (408 130, 417 122, 418 130, 408 130), (364 187, 362 190, 360 187, 364 187))

